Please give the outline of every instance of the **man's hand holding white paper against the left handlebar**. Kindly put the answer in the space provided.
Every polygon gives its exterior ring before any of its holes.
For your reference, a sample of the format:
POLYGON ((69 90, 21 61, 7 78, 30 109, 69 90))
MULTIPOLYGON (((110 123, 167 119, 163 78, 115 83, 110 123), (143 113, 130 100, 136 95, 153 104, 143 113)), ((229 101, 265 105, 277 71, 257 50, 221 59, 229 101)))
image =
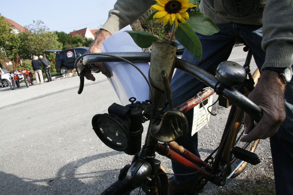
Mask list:
MULTIPOLYGON (((111 33, 109 33, 106 30, 99 30, 98 33, 96 34, 95 40, 93 40, 93 43, 91 45, 91 47, 88 49, 87 53, 100 53, 101 52, 101 46, 104 40, 106 40, 108 37, 111 36, 111 33)), ((79 70, 81 70, 84 66, 81 63, 77 64, 79 70)), ((108 69, 106 68, 104 63, 96 63, 95 66, 108 78, 111 77, 110 72, 108 71, 108 69)), ((91 73, 91 71, 85 71, 85 75, 86 79, 91 80, 91 81, 95 81, 96 78, 93 76, 93 74, 91 73)))

